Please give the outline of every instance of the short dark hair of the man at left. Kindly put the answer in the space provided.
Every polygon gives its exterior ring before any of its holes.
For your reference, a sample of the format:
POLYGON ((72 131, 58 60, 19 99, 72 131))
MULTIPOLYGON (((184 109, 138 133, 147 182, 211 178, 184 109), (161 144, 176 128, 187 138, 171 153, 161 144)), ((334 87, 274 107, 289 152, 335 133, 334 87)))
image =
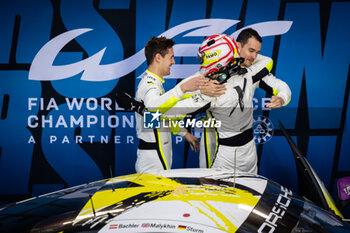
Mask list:
POLYGON ((164 36, 152 37, 145 46, 147 65, 152 64, 157 53, 164 57, 168 53, 168 49, 172 48, 174 44, 175 42, 172 39, 167 39, 164 36))

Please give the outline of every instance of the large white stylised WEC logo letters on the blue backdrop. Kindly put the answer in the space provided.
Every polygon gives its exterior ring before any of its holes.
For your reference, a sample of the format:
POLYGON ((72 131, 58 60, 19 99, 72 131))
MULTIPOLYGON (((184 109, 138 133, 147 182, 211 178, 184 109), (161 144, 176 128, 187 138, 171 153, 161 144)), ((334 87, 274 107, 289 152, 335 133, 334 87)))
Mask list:
MULTIPOLYGON (((239 20, 230 19, 201 19, 186 22, 175 26, 159 36, 174 38, 186 33, 183 37, 205 37, 213 34, 224 33, 227 29, 237 24, 239 20)), ((291 21, 269 21, 247 27, 254 28, 262 37, 281 35, 289 31, 291 21)), ((245 28, 247 28, 245 27, 245 28)), ((230 36, 236 38, 241 30, 235 31, 230 36)), ((122 61, 101 65, 103 55, 108 48, 103 48, 96 54, 79 62, 66 65, 53 65, 60 51, 76 37, 93 29, 81 28, 62 33, 47 42, 36 54, 29 69, 29 79, 37 81, 54 81, 73 77, 82 72, 81 80, 84 81, 109 81, 123 77, 137 69, 145 62, 144 49, 122 61)), ((196 57, 200 44, 177 44, 174 46, 175 56, 196 57)), ((199 64, 173 65, 171 75, 167 78, 187 77, 199 69, 199 64)))

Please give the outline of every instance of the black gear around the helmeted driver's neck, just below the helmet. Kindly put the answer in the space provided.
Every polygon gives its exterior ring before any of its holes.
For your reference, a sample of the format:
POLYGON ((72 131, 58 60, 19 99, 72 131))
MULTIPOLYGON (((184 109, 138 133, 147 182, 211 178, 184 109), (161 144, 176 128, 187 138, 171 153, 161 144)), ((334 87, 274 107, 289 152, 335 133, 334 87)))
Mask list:
POLYGON ((247 73, 247 69, 242 67, 243 62, 243 57, 234 58, 227 66, 221 67, 218 72, 211 72, 206 77, 211 80, 217 80, 220 84, 223 84, 235 74, 247 73))

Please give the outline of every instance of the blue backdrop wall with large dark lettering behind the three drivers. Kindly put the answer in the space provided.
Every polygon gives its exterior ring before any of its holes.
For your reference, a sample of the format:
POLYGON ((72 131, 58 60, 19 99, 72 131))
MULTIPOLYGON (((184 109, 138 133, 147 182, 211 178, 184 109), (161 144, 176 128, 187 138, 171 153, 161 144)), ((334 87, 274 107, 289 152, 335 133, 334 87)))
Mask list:
MULTIPOLYGON (((179 46, 169 89, 198 69, 192 51, 205 36, 249 26, 292 90, 289 105, 272 111, 256 93, 255 115, 274 129, 258 145, 259 173, 297 191, 279 120, 336 196, 337 178, 350 175, 349 11, 349 1, 331 0, 2 0, 0 204, 134 173, 135 117, 114 96, 135 94, 145 43, 164 34, 179 46)), ((198 167, 181 138, 173 144, 173 168, 198 167)))

